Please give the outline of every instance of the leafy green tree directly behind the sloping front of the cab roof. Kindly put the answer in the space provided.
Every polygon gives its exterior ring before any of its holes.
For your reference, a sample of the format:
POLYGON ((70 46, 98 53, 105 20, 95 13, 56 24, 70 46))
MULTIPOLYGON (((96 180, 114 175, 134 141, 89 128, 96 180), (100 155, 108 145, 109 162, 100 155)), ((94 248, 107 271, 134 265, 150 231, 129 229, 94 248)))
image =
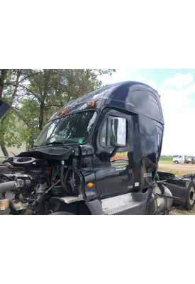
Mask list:
POLYGON ((72 99, 101 87, 98 76, 113 70, 27 70, 28 86, 20 87, 31 101, 38 103, 39 124, 42 130, 47 116, 72 99))

